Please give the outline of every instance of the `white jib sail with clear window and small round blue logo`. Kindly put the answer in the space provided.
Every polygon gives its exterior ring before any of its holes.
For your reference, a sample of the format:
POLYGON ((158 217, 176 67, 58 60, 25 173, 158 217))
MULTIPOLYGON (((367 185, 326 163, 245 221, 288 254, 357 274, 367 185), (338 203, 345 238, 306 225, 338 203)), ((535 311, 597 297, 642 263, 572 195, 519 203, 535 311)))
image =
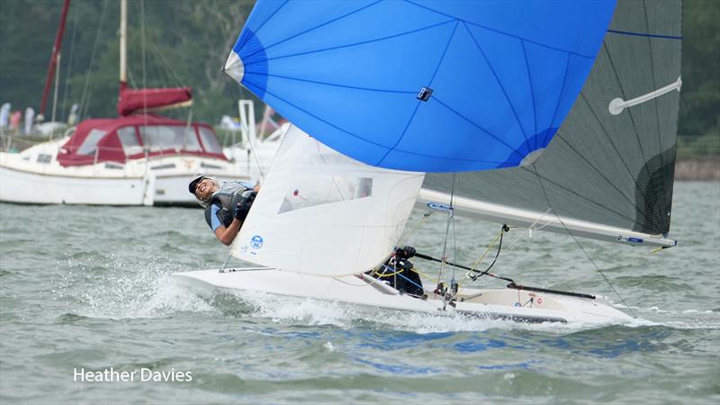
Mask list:
POLYGON ((367 166, 290 126, 232 246, 308 275, 352 275, 392 253, 423 175, 367 166))

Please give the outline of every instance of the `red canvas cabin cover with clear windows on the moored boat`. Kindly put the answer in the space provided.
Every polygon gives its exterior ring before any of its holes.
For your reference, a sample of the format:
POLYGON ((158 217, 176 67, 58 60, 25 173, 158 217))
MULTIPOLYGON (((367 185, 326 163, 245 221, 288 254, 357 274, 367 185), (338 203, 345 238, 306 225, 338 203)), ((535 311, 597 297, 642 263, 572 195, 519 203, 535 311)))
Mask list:
POLYGON ((155 114, 85 120, 58 152, 62 166, 125 163, 131 159, 193 155, 227 160, 215 131, 205 123, 155 114))

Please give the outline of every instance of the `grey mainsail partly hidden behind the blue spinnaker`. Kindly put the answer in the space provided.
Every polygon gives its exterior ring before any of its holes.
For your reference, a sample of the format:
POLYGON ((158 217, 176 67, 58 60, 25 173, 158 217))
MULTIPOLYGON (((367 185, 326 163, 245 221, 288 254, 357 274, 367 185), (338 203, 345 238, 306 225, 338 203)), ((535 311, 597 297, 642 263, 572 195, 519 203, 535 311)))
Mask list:
MULTIPOLYGON (((680 46, 680 0, 618 1, 588 81, 536 164, 458 173, 455 195, 539 212, 549 201, 561 217, 667 233, 680 93, 618 115, 608 104, 678 80, 680 46)), ((453 178, 428 174, 423 187, 450 193, 453 178)))

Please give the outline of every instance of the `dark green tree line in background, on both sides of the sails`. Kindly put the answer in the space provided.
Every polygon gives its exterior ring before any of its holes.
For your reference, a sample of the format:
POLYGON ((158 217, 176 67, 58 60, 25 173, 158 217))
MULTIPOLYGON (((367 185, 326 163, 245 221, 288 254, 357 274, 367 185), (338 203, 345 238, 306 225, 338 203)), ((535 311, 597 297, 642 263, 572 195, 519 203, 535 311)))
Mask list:
MULTIPOLYGON (((662 0, 647 0, 662 1, 662 0)), ((132 87, 193 87, 193 119, 216 123, 252 98, 221 72, 253 1, 131 0, 128 75, 132 87)), ((62 0, 3 0, 0 6, 0 103, 36 110, 62 0)), ((116 115, 119 81, 116 0, 73 0, 60 59, 58 120, 72 103, 80 115, 116 115)), ((720 2, 683 4, 680 136, 720 138, 720 2)), ((46 109, 49 117, 50 106, 46 109)))

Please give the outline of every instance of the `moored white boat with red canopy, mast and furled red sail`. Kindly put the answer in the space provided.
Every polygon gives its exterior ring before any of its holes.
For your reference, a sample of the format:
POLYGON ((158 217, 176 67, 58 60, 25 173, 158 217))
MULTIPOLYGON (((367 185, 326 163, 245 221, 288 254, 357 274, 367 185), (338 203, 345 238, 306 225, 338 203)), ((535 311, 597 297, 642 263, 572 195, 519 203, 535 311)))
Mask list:
MULTIPOLYGON (((63 16, 68 6, 66 1, 63 16)), ((249 182, 257 180, 261 160, 269 163, 279 142, 255 137, 254 112, 246 114, 247 152, 237 147, 223 151, 210 125, 157 114, 191 104, 189 87, 128 88, 126 20, 127 3, 121 0, 119 117, 81 121, 62 139, 20 153, 0 152, 0 201, 193 205, 193 195, 187 192, 193 174, 211 175, 220 182, 249 182)), ((51 62, 57 59, 62 31, 61 24, 51 62)), ((43 110, 48 89, 46 85, 43 110)))

